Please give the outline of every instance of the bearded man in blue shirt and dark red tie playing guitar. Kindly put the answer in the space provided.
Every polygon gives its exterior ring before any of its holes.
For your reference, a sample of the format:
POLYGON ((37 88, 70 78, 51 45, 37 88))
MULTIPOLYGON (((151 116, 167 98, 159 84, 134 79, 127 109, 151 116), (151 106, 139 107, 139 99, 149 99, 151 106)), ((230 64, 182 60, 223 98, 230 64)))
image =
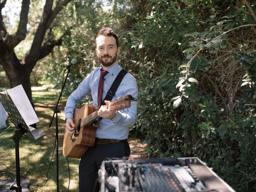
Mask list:
MULTIPOLYGON (((79 100, 82 100, 86 94, 91 92, 92 105, 100 106, 101 100, 105 98, 116 76, 122 70, 116 60, 119 54, 118 37, 114 34, 112 28, 102 28, 96 37, 96 55, 100 60, 100 67, 94 69, 84 78, 66 102, 66 133, 68 135, 72 136, 75 132, 75 124, 72 119, 74 108, 79 100), (100 89, 100 86, 102 86, 100 73, 104 73, 104 76, 102 76, 102 81, 104 78, 103 90, 100 89)), ((112 100, 127 94, 134 98, 138 97, 137 83, 130 73, 124 76, 112 100)), ((110 101, 104 102, 108 104, 110 101)), ((108 105, 100 106, 98 116, 103 119, 96 130, 94 146, 88 148, 79 164, 80 192, 92 192, 94 190, 94 184, 98 178, 98 169, 105 158, 129 157, 130 147, 127 138, 129 128, 136 122, 136 112, 136 101, 131 103, 130 108, 122 111, 110 110, 108 105)), ((99 191, 98 184, 96 184, 95 191, 99 191)))

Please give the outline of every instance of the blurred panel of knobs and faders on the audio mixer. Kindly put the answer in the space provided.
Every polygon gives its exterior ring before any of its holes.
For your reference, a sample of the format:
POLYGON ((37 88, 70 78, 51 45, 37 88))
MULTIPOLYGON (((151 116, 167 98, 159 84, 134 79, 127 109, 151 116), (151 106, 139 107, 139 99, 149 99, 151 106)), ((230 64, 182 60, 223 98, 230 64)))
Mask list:
POLYGON ((188 166, 118 164, 120 191, 197 192, 205 187, 188 166))

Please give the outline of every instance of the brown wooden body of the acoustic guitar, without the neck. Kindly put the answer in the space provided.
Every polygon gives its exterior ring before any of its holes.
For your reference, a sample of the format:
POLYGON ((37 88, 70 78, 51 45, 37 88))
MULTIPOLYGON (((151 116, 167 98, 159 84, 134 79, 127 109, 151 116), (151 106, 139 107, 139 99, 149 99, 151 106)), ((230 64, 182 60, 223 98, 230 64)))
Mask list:
MULTIPOLYGON (((86 118, 92 112, 96 111, 98 107, 85 104, 82 108, 74 109, 74 117, 73 122, 75 125, 79 125, 81 120, 86 118)), ((76 126, 75 136, 76 140, 72 140, 72 136, 68 135, 65 130, 64 140, 63 140, 63 155, 65 157, 72 157, 72 158, 82 158, 85 152, 94 145, 96 130, 98 128, 98 124, 95 126, 90 126, 87 124, 85 126, 76 126)))

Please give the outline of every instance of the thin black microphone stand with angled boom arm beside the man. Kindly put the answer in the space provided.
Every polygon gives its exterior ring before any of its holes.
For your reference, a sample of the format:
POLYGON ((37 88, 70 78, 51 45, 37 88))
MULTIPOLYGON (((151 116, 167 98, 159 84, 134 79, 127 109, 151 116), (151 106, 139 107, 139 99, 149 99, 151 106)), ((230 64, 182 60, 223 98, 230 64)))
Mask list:
POLYGON ((58 113, 60 113, 60 110, 58 109, 58 105, 59 105, 59 102, 60 102, 60 98, 62 97, 62 92, 64 90, 64 87, 65 87, 65 84, 66 84, 66 80, 68 78, 68 74, 70 73, 70 66, 67 67, 68 68, 68 71, 67 71, 67 74, 66 74, 66 78, 64 80, 64 83, 62 85, 62 89, 61 89, 61 92, 60 92, 60 96, 59 96, 59 99, 58 99, 58 102, 56 104, 56 107, 53 109, 53 115, 52 115, 52 120, 49 124, 49 128, 52 126, 52 121, 53 121, 53 118, 56 114, 56 121, 55 121, 55 127, 56 127, 56 136, 55 136, 55 147, 56 147, 56 180, 57 180, 57 192, 59 192, 59 155, 58 155, 58 133, 59 133, 59 130, 58 130, 58 113))

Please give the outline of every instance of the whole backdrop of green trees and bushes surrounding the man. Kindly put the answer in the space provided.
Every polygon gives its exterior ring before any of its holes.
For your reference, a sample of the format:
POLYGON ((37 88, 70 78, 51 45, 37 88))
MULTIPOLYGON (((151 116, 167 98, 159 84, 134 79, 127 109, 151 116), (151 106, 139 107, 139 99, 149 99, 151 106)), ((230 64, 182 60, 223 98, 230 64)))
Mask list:
POLYGON ((99 66, 94 39, 111 26, 119 63, 138 81, 131 132, 148 156, 197 156, 236 191, 254 191, 255 12, 247 0, 74 0, 54 23, 54 35, 68 36, 34 68, 35 82, 60 89, 64 66, 77 58, 68 96, 99 66))

